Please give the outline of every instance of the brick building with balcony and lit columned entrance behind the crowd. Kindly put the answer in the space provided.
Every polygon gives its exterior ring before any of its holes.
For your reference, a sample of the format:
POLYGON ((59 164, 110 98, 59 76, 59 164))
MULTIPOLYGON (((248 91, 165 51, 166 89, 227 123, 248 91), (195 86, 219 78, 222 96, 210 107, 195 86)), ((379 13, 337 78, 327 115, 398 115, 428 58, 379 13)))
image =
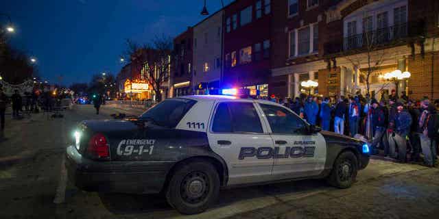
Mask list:
POLYGON ((319 83, 313 92, 325 96, 365 94, 369 75, 370 91, 377 98, 395 88, 416 99, 438 98, 439 47, 434 42, 438 4, 433 0, 274 1, 270 92, 297 96, 305 91, 300 83, 311 79, 319 83), (394 70, 409 71, 412 77, 398 83, 383 78, 394 70), (286 86, 276 86, 282 81, 286 86))

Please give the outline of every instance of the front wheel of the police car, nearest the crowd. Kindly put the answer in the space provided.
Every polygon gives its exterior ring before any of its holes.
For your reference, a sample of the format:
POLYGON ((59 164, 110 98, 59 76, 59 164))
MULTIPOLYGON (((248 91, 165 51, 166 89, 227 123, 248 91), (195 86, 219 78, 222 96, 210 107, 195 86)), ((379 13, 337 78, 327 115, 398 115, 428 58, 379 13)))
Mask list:
POLYGON ((327 181, 337 188, 350 188, 355 182, 357 172, 357 156, 351 151, 345 151, 338 155, 327 181))

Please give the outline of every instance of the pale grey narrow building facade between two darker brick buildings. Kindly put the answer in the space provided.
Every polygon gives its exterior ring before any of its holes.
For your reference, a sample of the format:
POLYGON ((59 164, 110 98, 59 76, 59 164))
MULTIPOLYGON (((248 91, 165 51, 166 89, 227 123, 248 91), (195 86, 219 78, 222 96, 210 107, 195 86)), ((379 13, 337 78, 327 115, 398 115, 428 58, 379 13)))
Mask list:
POLYGON ((222 10, 193 26, 194 94, 209 94, 219 89, 222 69, 222 10), (202 85, 202 86, 200 86, 202 85))

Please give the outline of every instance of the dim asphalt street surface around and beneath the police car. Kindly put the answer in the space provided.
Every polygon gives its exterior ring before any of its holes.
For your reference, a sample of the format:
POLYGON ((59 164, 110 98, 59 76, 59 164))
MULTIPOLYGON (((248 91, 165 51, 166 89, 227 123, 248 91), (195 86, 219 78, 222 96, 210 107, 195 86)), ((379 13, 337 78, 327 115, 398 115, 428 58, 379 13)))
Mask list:
POLYGON ((182 216, 159 195, 99 194, 75 188, 62 167, 80 120, 141 110, 76 105, 64 118, 8 120, 0 142, 0 218, 436 218, 439 169, 372 159, 352 188, 321 180, 224 190, 203 214, 182 216), (5 162, 7 161, 7 162, 5 162))

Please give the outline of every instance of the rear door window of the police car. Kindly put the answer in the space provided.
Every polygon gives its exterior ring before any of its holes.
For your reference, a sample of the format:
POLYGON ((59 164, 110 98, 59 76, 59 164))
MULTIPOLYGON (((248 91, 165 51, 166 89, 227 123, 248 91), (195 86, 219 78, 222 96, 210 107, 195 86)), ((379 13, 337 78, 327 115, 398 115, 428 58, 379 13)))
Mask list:
POLYGON ((219 103, 212 131, 217 133, 263 133, 253 103, 219 103))

